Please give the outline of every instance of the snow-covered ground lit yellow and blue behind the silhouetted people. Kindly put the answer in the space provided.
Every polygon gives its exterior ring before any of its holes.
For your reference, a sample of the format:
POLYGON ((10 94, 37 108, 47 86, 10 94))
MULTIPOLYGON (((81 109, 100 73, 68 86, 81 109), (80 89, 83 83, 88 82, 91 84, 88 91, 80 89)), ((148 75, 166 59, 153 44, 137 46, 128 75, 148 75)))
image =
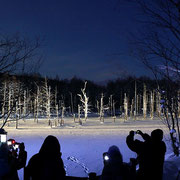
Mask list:
MULTIPOLYGON (((149 133, 161 128, 164 131, 164 141, 167 145, 167 166, 165 167, 165 178, 172 179, 175 173, 178 173, 173 164, 179 163, 179 158, 169 157, 171 147, 169 135, 166 126, 158 119, 154 120, 128 120, 106 118, 104 123, 100 123, 97 118, 90 118, 87 122, 80 126, 74 123, 73 119, 66 118, 63 127, 49 127, 46 119, 40 119, 37 124, 33 119, 19 121, 19 128, 15 129, 15 124, 11 123, 9 127, 4 129, 8 132, 8 138, 13 138, 17 142, 24 142, 29 159, 37 153, 47 135, 54 135, 59 139, 61 144, 62 159, 70 176, 87 176, 83 169, 85 165, 89 172, 96 172, 100 175, 103 168, 102 154, 106 152, 112 145, 119 147, 123 154, 125 162, 129 162, 129 158, 136 157, 136 154, 130 151, 126 145, 126 136, 130 130, 142 130, 149 133), (79 164, 68 159, 75 157, 79 160, 79 164), (172 162, 173 161, 173 162, 172 162), (174 172, 173 172, 174 171, 174 172), (167 174, 168 173, 168 174, 167 174)), ((139 135, 136 135, 140 139, 139 135)), ((177 165, 176 165, 177 166, 177 165)), ((177 176, 177 174, 175 174, 177 176)), ((20 179, 23 179, 22 170, 19 171, 20 179)), ((173 179, 172 179, 173 180, 173 179)))

